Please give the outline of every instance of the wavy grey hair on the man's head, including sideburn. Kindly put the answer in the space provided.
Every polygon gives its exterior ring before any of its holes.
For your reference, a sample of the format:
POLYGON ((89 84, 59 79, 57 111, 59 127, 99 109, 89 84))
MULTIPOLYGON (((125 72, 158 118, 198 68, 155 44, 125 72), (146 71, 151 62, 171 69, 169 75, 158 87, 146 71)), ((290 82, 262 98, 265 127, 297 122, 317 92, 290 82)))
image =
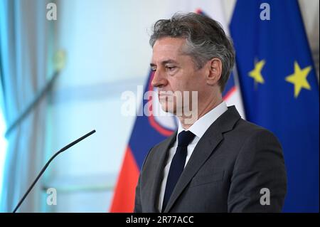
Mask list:
POLYGON ((235 51, 233 42, 225 35, 218 21, 208 16, 195 13, 176 13, 171 19, 161 19, 154 23, 150 45, 164 37, 186 38, 184 53, 193 58, 198 69, 212 58, 219 58, 222 62, 222 73, 218 84, 223 92, 228 81, 233 64, 235 51))

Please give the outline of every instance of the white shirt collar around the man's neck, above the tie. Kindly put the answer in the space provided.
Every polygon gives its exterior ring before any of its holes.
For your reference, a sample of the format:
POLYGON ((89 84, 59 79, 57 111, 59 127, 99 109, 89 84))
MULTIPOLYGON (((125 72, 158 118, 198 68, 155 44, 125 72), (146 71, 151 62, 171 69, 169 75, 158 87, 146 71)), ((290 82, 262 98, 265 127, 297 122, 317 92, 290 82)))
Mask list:
MULTIPOLYGON (((223 101, 212 110, 200 117, 196 122, 191 125, 188 129, 190 132, 196 135, 196 137, 201 138, 203 134, 205 134, 206 130, 210 127, 210 125, 217 120, 220 115, 222 115, 225 111, 228 110, 227 104, 223 101)), ((184 129, 181 125, 181 122, 178 123, 178 134, 182 132, 184 129)), ((178 136, 177 134, 177 136, 178 136)))

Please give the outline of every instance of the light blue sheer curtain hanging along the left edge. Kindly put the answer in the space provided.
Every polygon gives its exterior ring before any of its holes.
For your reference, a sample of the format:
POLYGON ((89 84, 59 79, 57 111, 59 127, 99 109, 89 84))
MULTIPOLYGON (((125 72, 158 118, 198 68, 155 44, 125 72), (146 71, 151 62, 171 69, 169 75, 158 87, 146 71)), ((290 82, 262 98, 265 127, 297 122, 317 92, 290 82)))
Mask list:
MULTIPOLYGON (((46 19, 48 2, 0 1, 0 91, 7 127, 16 122, 47 82, 49 27, 53 23, 46 19)), ((6 134, 2 212, 13 211, 43 165, 46 102, 41 100, 6 134)), ((40 200, 41 184, 36 184, 18 211, 41 211, 40 200)))

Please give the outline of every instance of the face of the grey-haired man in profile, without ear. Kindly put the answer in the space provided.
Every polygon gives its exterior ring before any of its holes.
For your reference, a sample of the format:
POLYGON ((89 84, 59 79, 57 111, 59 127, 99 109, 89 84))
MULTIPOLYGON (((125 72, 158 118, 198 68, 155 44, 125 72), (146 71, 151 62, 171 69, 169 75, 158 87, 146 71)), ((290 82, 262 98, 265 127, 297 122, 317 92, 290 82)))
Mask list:
POLYGON ((198 103, 191 103, 191 92, 196 91, 198 93, 196 101, 200 101, 206 88, 206 70, 198 69, 191 56, 183 53, 185 43, 185 38, 168 37, 157 40, 154 43, 150 64, 154 70, 151 84, 158 88, 161 107, 164 111, 175 115, 177 112, 185 114, 183 110, 198 107, 198 103), (189 101, 184 103, 186 95, 189 101))

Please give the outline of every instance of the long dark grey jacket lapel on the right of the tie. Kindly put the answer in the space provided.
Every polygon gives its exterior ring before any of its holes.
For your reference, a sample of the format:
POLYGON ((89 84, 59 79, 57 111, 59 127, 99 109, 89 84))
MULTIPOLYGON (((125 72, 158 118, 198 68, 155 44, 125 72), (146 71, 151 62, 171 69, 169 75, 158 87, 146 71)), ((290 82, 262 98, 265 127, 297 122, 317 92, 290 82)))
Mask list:
MULTIPOLYGON (((223 140, 223 133, 233 129, 233 126, 240 119, 238 111, 235 106, 228 107, 228 110, 218 117, 215 122, 208 128, 203 137, 199 140, 193 153, 183 170, 174 191, 168 201, 164 212, 169 212, 170 208, 174 205, 178 196, 182 193, 183 189, 186 188, 188 183, 191 181, 194 175, 196 175, 198 169, 200 169, 206 160, 215 150, 215 147, 223 140)), ((161 169, 163 171, 163 168, 161 169)))

